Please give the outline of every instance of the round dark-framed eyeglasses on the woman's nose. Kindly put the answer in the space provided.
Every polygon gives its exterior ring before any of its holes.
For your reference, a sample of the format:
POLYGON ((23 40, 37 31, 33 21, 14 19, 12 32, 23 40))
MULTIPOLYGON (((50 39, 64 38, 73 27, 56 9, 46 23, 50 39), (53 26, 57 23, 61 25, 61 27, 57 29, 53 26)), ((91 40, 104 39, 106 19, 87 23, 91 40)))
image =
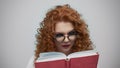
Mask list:
POLYGON ((58 42, 63 42, 65 40, 65 37, 67 37, 69 41, 72 41, 76 38, 76 35, 77 35, 77 32, 75 30, 72 30, 69 33, 67 33, 67 35, 64 35, 63 33, 55 34, 54 38, 58 42))

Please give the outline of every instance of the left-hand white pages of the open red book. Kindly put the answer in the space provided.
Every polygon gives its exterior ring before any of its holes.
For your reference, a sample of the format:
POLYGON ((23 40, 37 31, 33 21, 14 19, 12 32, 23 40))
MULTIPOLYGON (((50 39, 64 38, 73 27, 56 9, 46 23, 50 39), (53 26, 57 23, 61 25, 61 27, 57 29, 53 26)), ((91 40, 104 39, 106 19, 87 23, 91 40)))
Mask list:
POLYGON ((45 52, 40 53, 40 57, 36 62, 54 61, 60 59, 66 59, 66 55, 61 52, 45 52))

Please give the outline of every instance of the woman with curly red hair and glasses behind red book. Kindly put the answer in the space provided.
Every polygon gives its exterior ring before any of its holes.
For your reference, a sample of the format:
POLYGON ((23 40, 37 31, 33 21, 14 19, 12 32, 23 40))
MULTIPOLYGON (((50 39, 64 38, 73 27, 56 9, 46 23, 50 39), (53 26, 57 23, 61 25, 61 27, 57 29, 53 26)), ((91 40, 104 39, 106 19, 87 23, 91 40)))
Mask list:
MULTIPOLYGON (((62 52, 66 55, 92 50, 88 26, 81 15, 69 5, 59 5, 47 12, 36 35, 34 61, 42 52, 62 52)), ((28 68, 34 68, 34 61, 28 68)))

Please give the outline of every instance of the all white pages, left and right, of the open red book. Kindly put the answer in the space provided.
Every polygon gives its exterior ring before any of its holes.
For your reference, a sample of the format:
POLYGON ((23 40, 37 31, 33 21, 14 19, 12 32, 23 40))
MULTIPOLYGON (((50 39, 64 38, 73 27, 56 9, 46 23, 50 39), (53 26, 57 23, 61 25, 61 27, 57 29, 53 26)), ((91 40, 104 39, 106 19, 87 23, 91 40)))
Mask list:
POLYGON ((90 55, 97 55, 97 51, 88 50, 88 51, 74 52, 69 54, 68 56, 66 56, 64 53, 61 52, 44 52, 44 53, 40 53, 40 57, 36 60, 36 62, 55 61, 61 59, 69 60, 70 58, 90 56, 90 55))

